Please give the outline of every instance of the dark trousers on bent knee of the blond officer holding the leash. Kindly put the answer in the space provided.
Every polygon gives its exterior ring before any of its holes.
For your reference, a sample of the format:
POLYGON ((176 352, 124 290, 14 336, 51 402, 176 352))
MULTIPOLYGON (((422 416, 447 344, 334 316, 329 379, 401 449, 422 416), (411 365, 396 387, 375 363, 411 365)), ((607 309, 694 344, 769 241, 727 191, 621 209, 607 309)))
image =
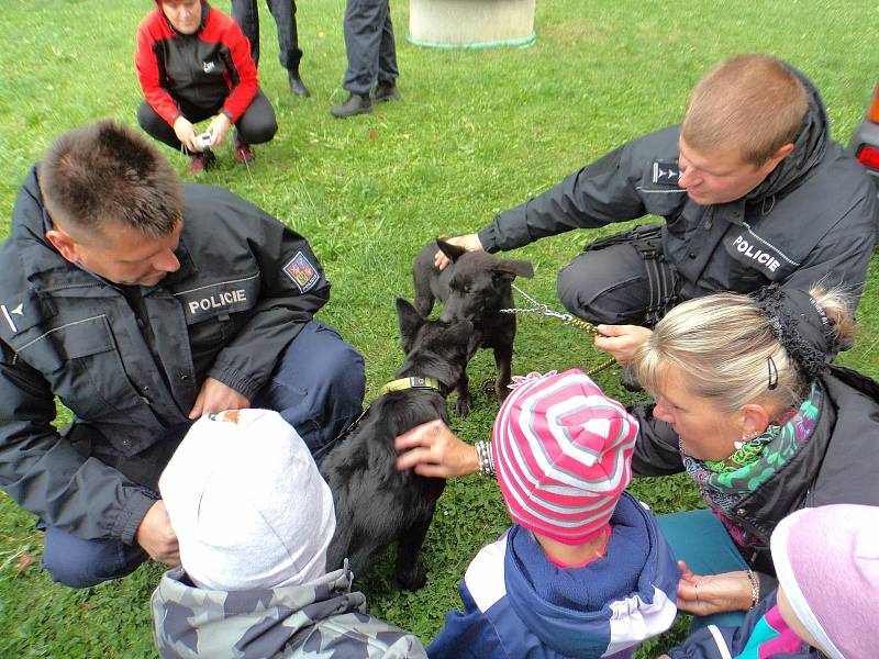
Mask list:
MULTIPOLYGON (((669 280, 677 279, 661 256, 655 267, 669 280)), ((556 281, 558 299, 570 313, 608 325, 653 325, 648 308, 656 286, 631 243, 583 252, 559 271, 556 281)))

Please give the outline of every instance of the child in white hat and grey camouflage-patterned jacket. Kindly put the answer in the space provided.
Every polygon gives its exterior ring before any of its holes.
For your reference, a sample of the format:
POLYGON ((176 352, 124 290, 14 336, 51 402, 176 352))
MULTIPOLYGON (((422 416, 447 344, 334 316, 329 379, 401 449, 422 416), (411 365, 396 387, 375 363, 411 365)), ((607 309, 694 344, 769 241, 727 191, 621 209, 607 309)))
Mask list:
POLYGON ((365 615, 347 567, 326 573, 330 488, 277 413, 202 417, 159 490, 182 563, 153 594, 162 657, 425 656, 415 636, 365 615))

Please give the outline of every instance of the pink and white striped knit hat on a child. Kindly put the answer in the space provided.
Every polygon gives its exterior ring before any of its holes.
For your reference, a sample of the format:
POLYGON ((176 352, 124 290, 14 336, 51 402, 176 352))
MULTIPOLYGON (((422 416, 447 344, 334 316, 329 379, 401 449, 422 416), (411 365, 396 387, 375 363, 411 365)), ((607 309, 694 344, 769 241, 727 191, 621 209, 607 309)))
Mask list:
POLYGON ((604 530, 632 480, 638 423, 582 371, 514 381, 491 434, 507 510, 537 534, 582 544, 604 530))

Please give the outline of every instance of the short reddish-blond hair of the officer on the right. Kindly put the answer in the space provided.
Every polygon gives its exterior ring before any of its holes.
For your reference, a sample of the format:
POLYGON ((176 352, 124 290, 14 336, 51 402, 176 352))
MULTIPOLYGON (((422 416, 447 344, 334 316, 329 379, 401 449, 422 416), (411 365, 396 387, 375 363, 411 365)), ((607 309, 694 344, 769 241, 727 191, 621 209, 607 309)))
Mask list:
POLYGON ((737 149, 759 167, 791 144, 808 110, 800 78, 769 55, 737 55, 697 83, 681 123, 681 137, 700 154, 737 149))

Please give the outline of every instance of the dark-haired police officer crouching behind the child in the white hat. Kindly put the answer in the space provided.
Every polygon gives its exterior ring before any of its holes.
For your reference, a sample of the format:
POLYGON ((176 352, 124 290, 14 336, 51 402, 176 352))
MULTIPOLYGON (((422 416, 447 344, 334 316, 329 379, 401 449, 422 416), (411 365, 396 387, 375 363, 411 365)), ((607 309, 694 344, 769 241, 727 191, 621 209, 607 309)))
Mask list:
POLYGON ((47 528, 43 565, 67 585, 179 562, 156 483, 199 416, 274 409, 314 453, 360 412, 363 358, 313 319, 330 283, 305 239, 181 187, 127 127, 55 142, 0 272, 0 485, 47 528))

